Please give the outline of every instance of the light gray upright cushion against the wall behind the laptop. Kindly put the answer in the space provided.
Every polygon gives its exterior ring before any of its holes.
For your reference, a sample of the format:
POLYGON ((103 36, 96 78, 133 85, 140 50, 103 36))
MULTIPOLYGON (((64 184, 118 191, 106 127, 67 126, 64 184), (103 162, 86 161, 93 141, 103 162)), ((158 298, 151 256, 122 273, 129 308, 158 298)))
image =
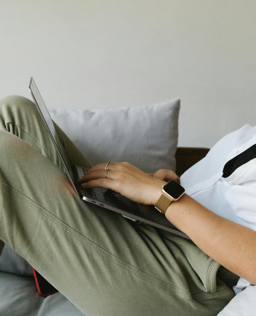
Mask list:
POLYGON ((51 109, 50 115, 95 165, 129 161, 145 172, 175 171, 180 100, 108 110, 51 109))

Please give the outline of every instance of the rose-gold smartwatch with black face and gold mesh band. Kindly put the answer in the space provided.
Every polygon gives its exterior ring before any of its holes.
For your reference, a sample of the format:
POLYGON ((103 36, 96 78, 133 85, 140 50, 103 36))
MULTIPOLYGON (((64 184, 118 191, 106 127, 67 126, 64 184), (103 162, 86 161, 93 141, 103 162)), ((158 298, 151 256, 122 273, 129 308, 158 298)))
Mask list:
POLYGON ((162 195, 155 204, 155 208, 164 214, 173 201, 178 201, 178 199, 185 193, 183 186, 177 182, 171 180, 167 184, 162 186, 162 195))

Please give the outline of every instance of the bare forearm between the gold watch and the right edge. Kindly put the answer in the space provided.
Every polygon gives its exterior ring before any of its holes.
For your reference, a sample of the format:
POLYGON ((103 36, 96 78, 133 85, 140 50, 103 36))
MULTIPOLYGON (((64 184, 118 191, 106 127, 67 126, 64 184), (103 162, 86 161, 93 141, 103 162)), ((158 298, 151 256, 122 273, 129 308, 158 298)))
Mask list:
POLYGON ((256 232, 216 215, 186 194, 171 203, 165 215, 211 258, 256 284, 256 232))

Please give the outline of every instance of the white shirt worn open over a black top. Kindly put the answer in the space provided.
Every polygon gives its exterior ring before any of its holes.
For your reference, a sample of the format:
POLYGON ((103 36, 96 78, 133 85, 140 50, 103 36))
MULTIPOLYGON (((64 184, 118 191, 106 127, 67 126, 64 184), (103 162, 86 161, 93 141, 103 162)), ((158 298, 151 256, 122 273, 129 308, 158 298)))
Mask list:
MULTIPOLYGON (((256 231, 256 158, 238 167, 229 177, 222 178, 226 162, 254 144, 256 126, 247 124, 216 143, 206 157, 181 176, 180 184, 188 195, 212 212, 256 231)), ((234 287, 236 294, 239 293, 238 288, 241 291, 248 285, 249 282, 240 278, 234 287)), ((253 291, 255 289, 254 286, 249 286, 247 292, 249 288, 253 291)), ((240 297, 245 300, 245 297, 249 296, 238 295, 237 299, 240 297)), ((233 300, 235 299, 236 297, 233 300)), ((239 304, 241 305, 241 302, 239 304)), ((248 304, 246 306, 248 307, 248 304)), ((255 311, 256 305, 254 307, 255 311)), ((251 304, 248 308, 251 308, 251 304)), ((251 315, 249 310, 245 314, 251 315)))

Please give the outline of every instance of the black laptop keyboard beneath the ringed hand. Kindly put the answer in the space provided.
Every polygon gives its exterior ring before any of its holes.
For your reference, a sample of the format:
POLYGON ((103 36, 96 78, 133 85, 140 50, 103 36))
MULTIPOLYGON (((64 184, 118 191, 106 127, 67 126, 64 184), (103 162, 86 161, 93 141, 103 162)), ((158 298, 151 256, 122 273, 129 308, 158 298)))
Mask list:
MULTIPOLYGON (((87 171, 87 169, 83 168, 84 173, 87 171)), ((143 215, 136 202, 131 201, 120 193, 105 188, 91 188, 88 191, 91 197, 99 202, 116 206, 121 210, 126 210, 136 215, 143 215)))

